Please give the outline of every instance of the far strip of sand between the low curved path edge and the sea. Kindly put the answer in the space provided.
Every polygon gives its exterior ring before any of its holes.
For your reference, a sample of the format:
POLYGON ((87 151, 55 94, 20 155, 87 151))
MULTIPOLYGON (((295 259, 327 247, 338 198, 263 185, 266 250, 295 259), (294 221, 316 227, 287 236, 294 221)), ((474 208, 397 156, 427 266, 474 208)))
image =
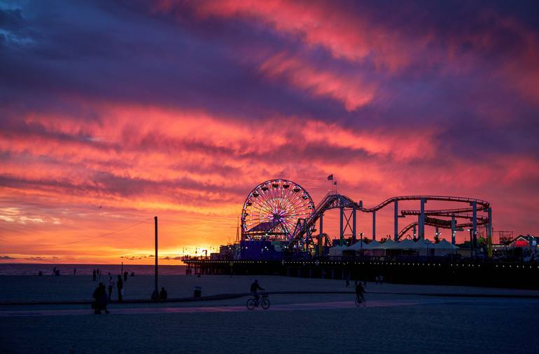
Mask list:
MULTIPOLYGON (((254 279, 258 279, 267 292, 353 292, 353 282, 345 286, 343 280, 318 278, 293 278, 279 276, 233 276, 227 275, 162 275, 159 286, 165 287, 169 298, 193 297, 195 286, 202 288, 202 296, 218 294, 246 293, 254 279)), ((107 275, 100 281, 106 285, 107 275)), ((113 276, 116 280, 116 276, 113 276)), ((0 275, 0 303, 38 301, 91 301, 92 293, 99 282, 92 281, 90 275, 0 275)), ((125 283, 124 299, 150 299, 153 291, 152 275, 128 277, 125 283)), ((487 294, 518 295, 539 297, 538 290, 519 290, 489 287, 461 287, 446 285, 400 285, 384 283, 376 285, 367 282, 367 292, 374 294, 487 294)), ((116 287, 112 299, 118 298, 116 287)))

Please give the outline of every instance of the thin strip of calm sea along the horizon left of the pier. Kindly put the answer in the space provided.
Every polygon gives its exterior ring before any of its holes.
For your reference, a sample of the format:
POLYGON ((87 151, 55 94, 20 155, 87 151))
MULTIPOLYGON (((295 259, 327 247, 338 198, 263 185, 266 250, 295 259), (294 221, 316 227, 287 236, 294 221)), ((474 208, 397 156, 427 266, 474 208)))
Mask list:
MULTIPOLYGON (((92 275, 94 269, 99 269, 102 274, 120 274, 121 266, 116 264, 0 264, 0 275, 52 275, 52 269, 59 269, 60 275, 92 275)), ((135 275, 153 275, 154 266, 140 266, 124 264, 124 271, 135 275)), ((159 266, 160 275, 185 275, 186 266, 159 266)))

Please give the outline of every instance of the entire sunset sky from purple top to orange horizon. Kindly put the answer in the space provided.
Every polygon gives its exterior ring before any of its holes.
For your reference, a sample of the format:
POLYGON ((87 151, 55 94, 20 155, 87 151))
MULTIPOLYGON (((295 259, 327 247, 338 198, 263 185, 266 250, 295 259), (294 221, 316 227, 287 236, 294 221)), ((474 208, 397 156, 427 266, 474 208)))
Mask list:
POLYGON ((483 198, 495 230, 537 235, 538 18, 537 1, 0 0, 0 261, 151 263, 154 215, 173 259, 234 240, 260 182, 317 203, 329 174, 366 207, 483 198))

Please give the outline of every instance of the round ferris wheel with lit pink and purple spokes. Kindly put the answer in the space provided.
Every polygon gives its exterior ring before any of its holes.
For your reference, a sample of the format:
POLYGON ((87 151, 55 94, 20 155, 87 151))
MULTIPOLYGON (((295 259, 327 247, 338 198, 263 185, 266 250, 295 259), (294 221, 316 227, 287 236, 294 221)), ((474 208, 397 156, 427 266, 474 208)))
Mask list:
POLYGON ((248 194, 241 210, 241 236, 250 239, 289 240, 297 219, 314 211, 309 193, 287 179, 270 179, 248 194))

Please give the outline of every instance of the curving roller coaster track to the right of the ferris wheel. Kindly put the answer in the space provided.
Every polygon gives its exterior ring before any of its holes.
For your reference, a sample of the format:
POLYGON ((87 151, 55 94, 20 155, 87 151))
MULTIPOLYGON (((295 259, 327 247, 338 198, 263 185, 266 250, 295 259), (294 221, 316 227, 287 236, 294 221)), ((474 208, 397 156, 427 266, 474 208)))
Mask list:
MULTIPOLYGON (((338 193, 328 193, 322 198, 320 203, 316 205, 314 211, 307 219, 298 219, 297 224, 295 225, 294 231, 290 237, 290 246, 295 245, 302 236, 314 228, 316 221, 320 219, 324 212, 330 209, 335 209, 343 207, 345 209, 355 208, 360 212, 377 212, 381 208, 394 203, 399 200, 441 200, 448 202, 459 202, 459 203, 473 203, 477 204, 477 211, 486 210, 489 208, 490 204, 486 200, 477 199, 477 198, 465 198, 465 197, 455 197, 455 196, 396 196, 393 198, 388 198, 378 205, 370 208, 360 207, 358 203, 353 201, 347 196, 342 196, 338 193)), ((436 219, 430 216, 441 216, 441 217, 451 217, 454 215, 456 218, 463 219, 472 219, 472 216, 466 214, 472 212, 472 207, 461 207, 457 209, 442 209, 442 210, 425 210, 424 213, 426 216, 425 224, 428 226, 438 226, 442 228, 451 228, 451 222, 444 219, 436 219)), ((401 215, 419 215, 421 212, 419 210, 402 210, 401 215)), ((477 224, 487 224, 488 219, 484 217, 477 217, 477 224)), ((399 233, 399 238, 401 238, 409 229, 412 229, 414 224, 417 222, 412 222, 399 233)), ((457 224, 456 227, 468 227, 472 226, 472 223, 457 224)))

